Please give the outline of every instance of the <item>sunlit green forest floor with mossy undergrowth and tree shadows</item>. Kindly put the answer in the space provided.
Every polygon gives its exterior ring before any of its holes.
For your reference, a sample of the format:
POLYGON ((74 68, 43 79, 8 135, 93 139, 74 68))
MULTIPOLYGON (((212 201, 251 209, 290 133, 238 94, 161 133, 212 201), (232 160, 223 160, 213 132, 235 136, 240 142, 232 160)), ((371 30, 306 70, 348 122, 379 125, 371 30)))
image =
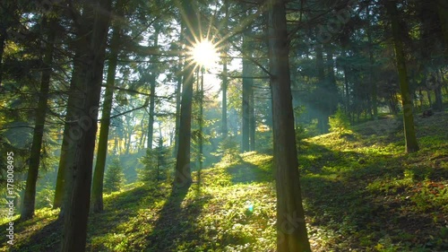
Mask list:
MULTIPOLYGON (((418 118, 411 154, 393 118, 300 143, 313 251, 448 251, 447 126, 448 113, 418 118)), ((275 251, 271 160, 247 152, 204 169, 200 187, 134 183, 107 195, 105 211, 90 215, 87 250, 275 251)), ((12 250, 57 251, 57 213, 14 225, 12 250)))

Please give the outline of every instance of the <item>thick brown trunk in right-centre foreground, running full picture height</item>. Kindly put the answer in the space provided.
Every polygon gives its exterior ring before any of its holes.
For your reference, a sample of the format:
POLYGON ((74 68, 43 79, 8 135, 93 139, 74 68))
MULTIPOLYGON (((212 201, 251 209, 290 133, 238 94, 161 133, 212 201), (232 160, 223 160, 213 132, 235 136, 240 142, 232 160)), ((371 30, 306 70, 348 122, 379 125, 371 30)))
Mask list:
POLYGON ((273 153, 277 187, 277 251, 305 252, 311 251, 311 248, 306 233, 294 137, 285 2, 269 0, 269 3, 273 153))

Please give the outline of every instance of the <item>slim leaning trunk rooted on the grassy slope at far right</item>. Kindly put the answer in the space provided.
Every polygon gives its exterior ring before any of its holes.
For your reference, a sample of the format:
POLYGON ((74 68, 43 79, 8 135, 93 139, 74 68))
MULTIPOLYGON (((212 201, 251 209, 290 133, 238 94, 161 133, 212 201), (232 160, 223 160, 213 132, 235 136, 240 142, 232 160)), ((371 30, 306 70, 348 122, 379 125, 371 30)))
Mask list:
POLYGON ((406 140, 406 152, 418 152, 418 143, 412 115, 412 100, 409 92, 409 80, 406 69, 403 44, 401 41, 401 27, 395 2, 385 0, 385 6, 392 22, 392 36, 397 58, 397 68, 400 78, 401 103, 403 106, 403 125, 406 140))

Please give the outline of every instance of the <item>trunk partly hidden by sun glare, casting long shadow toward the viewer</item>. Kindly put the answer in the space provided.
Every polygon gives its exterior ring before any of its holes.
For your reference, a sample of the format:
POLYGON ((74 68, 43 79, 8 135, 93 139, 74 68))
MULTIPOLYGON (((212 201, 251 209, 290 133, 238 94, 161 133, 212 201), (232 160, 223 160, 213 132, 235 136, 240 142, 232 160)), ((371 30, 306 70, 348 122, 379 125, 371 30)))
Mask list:
MULTIPOLYGON (((187 48, 193 48, 192 44, 195 30, 198 29, 197 8, 195 2, 183 0, 180 6, 180 13, 185 23, 189 25, 185 29, 185 41, 187 48)), ((183 77, 183 91, 180 108, 179 125, 179 144, 177 151, 176 175, 174 183, 177 187, 189 187, 192 183, 191 161, 190 161, 190 143, 192 135, 192 101, 193 101, 193 83, 194 83, 194 62, 191 60, 185 62, 185 71, 183 77)))

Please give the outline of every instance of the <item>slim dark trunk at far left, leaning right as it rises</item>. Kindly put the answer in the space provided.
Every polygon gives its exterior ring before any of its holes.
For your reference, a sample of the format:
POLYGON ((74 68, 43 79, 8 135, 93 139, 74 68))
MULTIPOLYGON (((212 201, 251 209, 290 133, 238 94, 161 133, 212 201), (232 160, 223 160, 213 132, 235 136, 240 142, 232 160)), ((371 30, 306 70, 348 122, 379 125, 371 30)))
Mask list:
POLYGON ((27 220, 34 215, 36 201, 36 182, 38 181, 40 149, 42 148, 42 138, 44 135, 45 118, 47 117, 47 100, 52 73, 53 51, 55 48, 56 25, 55 18, 44 17, 44 27, 47 28, 47 46, 43 59, 43 70, 40 79, 40 91, 38 109, 36 109, 36 125, 30 152, 30 167, 28 169, 27 183, 23 195, 23 205, 21 219, 27 220))

